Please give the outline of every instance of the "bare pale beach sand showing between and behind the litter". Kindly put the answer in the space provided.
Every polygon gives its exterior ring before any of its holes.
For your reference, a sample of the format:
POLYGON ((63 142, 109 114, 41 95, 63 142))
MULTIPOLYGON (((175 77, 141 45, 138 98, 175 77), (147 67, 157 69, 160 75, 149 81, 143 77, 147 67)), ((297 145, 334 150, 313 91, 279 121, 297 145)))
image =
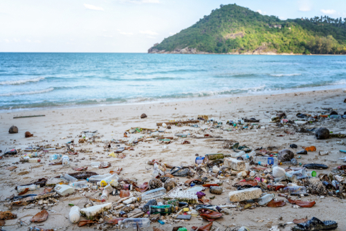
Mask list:
MULTIPOLYGON (((302 146, 315 145, 317 151, 309 152, 307 156, 302 156, 298 159, 301 163, 323 163, 329 165, 329 169, 325 171, 317 170, 318 174, 321 172, 330 172, 333 167, 343 165, 338 158, 345 156, 341 154, 339 149, 346 149, 345 146, 336 145, 338 138, 331 138, 329 140, 316 140, 314 136, 309 136, 307 133, 295 133, 287 135, 284 129, 277 129, 274 124, 268 122, 266 115, 275 113, 275 111, 286 111, 288 119, 296 119, 295 114, 298 112, 304 113, 317 113, 322 111, 320 107, 332 107, 337 109, 338 113, 346 111, 346 104, 343 103, 345 93, 341 89, 328 90, 328 91, 311 91, 302 93, 286 93, 282 95, 261 95, 261 96, 247 96, 247 97, 233 97, 233 98, 217 98, 209 100, 190 100, 184 102, 170 102, 165 104, 138 104, 126 106, 104 106, 104 107, 86 107, 86 108, 65 108, 65 109, 43 109, 39 111, 21 111, 12 113, 1 113, 0 128, 0 149, 4 152, 9 147, 21 147, 25 145, 32 145, 36 142, 44 144, 55 145, 57 143, 64 144, 71 139, 78 142, 78 134, 81 131, 98 130, 104 138, 107 139, 123 139, 125 130, 131 127, 145 127, 156 129, 156 122, 167 122, 168 120, 182 120, 187 118, 197 118, 197 115, 209 115, 210 118, 226 123, 228 119, 237 119, 246 116, 247 118, 260 119, 260 124, 266 125, 266 129, 258 130, 244 130, 244 131, 221 131, 214 129, 213 132, 208 131, 212 136, 221 136, 224 139, 237 140, 241 145, 248 145, 251 147, 268 147, 276 146, 278 149, 289 148, 291 143, 298 145, 298 150, 302 146), (147 118, 140 119, 142 113, 147 114, 147 118), (39 118, 20 118, 13 119, 13 116, 23 115, 46 115, 39 118), (266 114, 266 115, 265 115, 266 114), (19 128, 19 133, 10 134, 8 129, 15 125, 19 128), (32 138, 24 138, 24 133, 30 131, 34 134, 32 138), (277 137, 282 134, 283 137, 277 137), (72 138, 62 139, 67 136, 72 138), (46 140, 46 142, 42 142, 46 140), (329 151, 328 156, 318 156, 318 151, 329 151)), ((331 131, 345 133, 346 122, 341 120, 339 122, 326 122, 325 127, 331 131)), ((202 125, 201 128, 207 128, 208 125, 202 125)), ((316 127, 316 124, 311 124, 306 127, 316 127)), ((203 136, 204 133, 199 128, 192 127, 175 127, 166 130, 167 136, 174 136, 174 133, 182 130, 190 130, 190 133, 197 133, 203 136)), ((291 129, 292 130, 292 129, 291 129)), ((143 134, 134 134, 139 137, 143 134)), ((153 158, 163 160, 165 163, 172 165, 190 164, 194 163, 195 154, 204 156, 205 154, 224 153, 228 154, 231 151, 224 149, 224 142, 213 141, 212 139, 194 139, 187 138, 191 142, 190 145, 181 145, 182 139, 167 145, 167 149, 163 150, 163 145, 158 141, 153 142, 140 142, 139 145, 134 147, 135 151, 124 151, 126 158, 107 158, 109 152, 105 152, 102 144, 95 145, 76 145, 75 149, 89 149, 93 152, 91 154, 79 154, 78 156, 71 156, 73 162, 71 167, 62 168, 62 165, 48 166, 48 158, 43 158, 43 163, 24 163, 15 165, 18 168, 10 172, 5 168, 12 166, 12 163, 19 161, 19 158, 5 158, 0 160, 0 198, 1 201, 10 196, 11 194, 17 195, 15 186, 24 183, 30 183, 38 178, 58 176, 62 173, 74 172, 72 167, 89 166, 92 161, 109 161, 112 165, 110 169, 92 169, 90 171, 97 172, 98 174, 109 173, 109 170, 118 169, 122 167, 123 171, 120 176, 122 178, 137 179, 138 183, 149 182, 152 178, 152 165, 145 164, 146 160, 153 158), (76 159, 85 157, 85 160, 74 162, 76 159), (95 158, 95 160, 90 160, 95 158), (32 168, 31 168, 32 167, 32 168), (20 172, 28 171, 30 173, 20 176, 20 172)), ((115 145, 113 145, 114 147, 115 145)), ((124 145, 121 145, 122 147, 124 145)), ((115 147, 114 147, 115 148, 115 147)), ((297 151, 297 150, 293 150, 297 151)), ((51 154, 46 154, 50 156, 51 154)), ((179 182, 185 182, 187 178, 180 177, 179 182)), ((217 195, 215 200, 212 200, 212 205, 229 204, 228 192, 236 190, 232 187, 233 180, 226 180, 224 182, 224 192, 217 195), (228 181, 228 182, 227 182, 228 181)), ((42 192, 43 189, 37 190, 42 192)), ((207 192, 207 198, 210 194, 207 192)), ((30 193, 30 192, 28 192, 30 193)), ((86 195, 90 195, 87 193, 86 195)), ((138 194, 138 193, 137 193, 138 194)), ((139 194, 138 194, 139 195, 139 194)), ((277 193, 275 193, 277 195, 277 193)), ((98 194, 93 196, 98 198, 98 194)), ((257 207, 255 210, 237 211, 233 209, 232 215, 224 215, 221 219, 214 222, 215 227, 219 227, 220 231, 230 227, 231 230, 236 226, 246 225, 250 230, 269 230, 272 225, 279 223, 286 223, 293 221, 293 219, 302 219, 316 216, 321 220, 334 220, 338 222, 339 228, 336 230, 345 230, 345 200, 328 196, 325 198, 318 198, 318 196, 307 196, 305 199, 313 199, 316 205, 311 208, 293 208, 291 204, 286 203, 284 207, 257 207), (279 218, 282 217, 282 220, 279 218), (262 222, 260 222, 262 220, 262 222)), ((114 197, 109 197, 109 202, 113 201, 114 197)), ((87 228, 86 226, 78 228, 77 225, 71 224, 68 220, 70 207, 69 203, 73 203, 83 207, 88 200, 82 196, 81 193, 76 193, 75 196, 68 196, 60 199, 60 203, 48 209, 48 219, 43 222, 40 228, 61 228, 66 227, 67 230, 89 230, 97 227, 96 225, 87 228)), ((6 210, 3 203, 0 205, 1 211, 6 210)), ((18 218, 24 221, 24 225, 19 227, 15 223, 18 220, 6 221, 4 230, 27 230, 26 224, 30 224, 29 219, 40 211, 38 206, 30 209, 19 207, 12 212, 18 214, 18 218)), ((84 219, 84 218, 83 218, 84 219)), ((195 217, 188 222, 179 222, 171 225, 167 221, 165 225, 159 223, 152 223, 153 226, 160 226, 164 230, 172 230, 174 226, 185 226, 191 228, 193 225, 200 226, 206 225, 208 222, 195 217)), ((286 225, 285 228, 280 230, 291 230, 293 225, 286 225)), ((59 229, 58 229, 59 230, 59 229)), ((63 229, 60 229, 63 230, 63 229)), ((152 230, 152 228, 145 228, 143 230, 152 230)), ((229 230, 229 229, 228 229, 229 230)))

